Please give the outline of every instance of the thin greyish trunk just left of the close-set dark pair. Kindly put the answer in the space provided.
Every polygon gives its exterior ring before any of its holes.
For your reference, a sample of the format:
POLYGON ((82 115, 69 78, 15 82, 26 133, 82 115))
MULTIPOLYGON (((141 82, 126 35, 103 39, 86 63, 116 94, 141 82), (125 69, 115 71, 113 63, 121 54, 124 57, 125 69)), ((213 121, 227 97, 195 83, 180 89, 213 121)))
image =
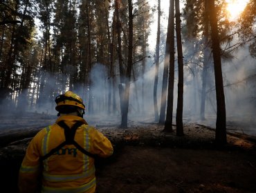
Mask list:
POLYGON ((157 19, 157 34, 156 34, 156 70, 154 80, 154 112, 155 121, 159 120, 158 105, 157 105, 157 85, 158 85, 158 69, 159 69, 159 47, 160 47, 160 18, 161 18, 161 1, 158 0, 158 19, 157 19))

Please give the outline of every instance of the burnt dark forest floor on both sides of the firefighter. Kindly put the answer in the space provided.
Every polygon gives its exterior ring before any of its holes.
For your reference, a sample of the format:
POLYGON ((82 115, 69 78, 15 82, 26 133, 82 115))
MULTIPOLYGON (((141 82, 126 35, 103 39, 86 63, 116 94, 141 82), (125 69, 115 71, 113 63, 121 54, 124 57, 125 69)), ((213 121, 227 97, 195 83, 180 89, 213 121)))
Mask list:
MULTIPOLYGON (((42 125, 52 121, 44 119, 42 125)), ((40 124, 1 130, 3 192, 17 192, 19 166, 40 124)), ((184 125, 183 137, 176 136, 175 126, 174 132, 164 133, 163 126, 155 123, 132 123, 125 130, 98 125, 98 129, 114 147, 113 156, 95 161, 99 193, 256 192, 253 137, 228 134, 228 144, 219 148, 214 130, 196 123, 184 125)))

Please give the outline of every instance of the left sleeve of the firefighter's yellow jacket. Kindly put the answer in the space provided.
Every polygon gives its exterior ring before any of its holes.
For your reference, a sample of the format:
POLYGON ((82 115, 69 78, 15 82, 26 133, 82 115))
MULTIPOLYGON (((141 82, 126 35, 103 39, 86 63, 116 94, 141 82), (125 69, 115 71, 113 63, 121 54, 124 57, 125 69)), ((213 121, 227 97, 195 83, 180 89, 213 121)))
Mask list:
POLYGON ((36 192, 39 182, 40 155, 39 155, 39 132, 30 141, 26 155, 19 169, 19 192, 36 192))

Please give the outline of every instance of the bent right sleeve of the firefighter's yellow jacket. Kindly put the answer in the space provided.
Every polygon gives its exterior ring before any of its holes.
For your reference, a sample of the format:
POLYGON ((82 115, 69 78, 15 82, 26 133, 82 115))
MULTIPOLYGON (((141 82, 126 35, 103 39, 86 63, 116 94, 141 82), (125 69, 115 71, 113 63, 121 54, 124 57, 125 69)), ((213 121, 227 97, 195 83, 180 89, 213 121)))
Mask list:
POLYGON ((91 132, 91 139, 91 151, 93 154, 103 158, 113 154, 113 146, 109 139, 95 128, 91 132))

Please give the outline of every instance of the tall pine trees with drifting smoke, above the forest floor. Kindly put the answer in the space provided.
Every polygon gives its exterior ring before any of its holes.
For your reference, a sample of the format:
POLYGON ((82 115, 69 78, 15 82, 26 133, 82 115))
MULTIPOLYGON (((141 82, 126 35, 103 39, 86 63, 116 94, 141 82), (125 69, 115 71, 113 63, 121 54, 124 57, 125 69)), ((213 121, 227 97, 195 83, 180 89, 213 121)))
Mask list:
POLYGON ((1 112, 54 114, 72 90, 122 128, 213 117, 225 141, 227 116, 255 125, 255 4, 232 18, 221 0, 1 1, 1 112))

